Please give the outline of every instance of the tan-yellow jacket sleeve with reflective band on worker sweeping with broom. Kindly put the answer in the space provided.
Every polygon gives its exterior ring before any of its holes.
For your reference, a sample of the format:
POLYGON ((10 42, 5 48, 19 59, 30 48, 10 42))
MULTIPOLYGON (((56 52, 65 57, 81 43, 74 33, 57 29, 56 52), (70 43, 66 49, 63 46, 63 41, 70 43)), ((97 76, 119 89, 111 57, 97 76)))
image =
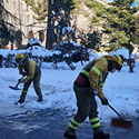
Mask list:
POLYGON ((95 66, 91 68, 90 72, 89 72, 89 81, 90 81, 90 86, 92 89, 98 88, 99 93, 101 93, 102 98, 103 98, 103 93, 102 93, 102 87, 98 85, 99 82, 99 76, 106 70, 108 62, 105 58, 99 58, 96 60, 95 66))

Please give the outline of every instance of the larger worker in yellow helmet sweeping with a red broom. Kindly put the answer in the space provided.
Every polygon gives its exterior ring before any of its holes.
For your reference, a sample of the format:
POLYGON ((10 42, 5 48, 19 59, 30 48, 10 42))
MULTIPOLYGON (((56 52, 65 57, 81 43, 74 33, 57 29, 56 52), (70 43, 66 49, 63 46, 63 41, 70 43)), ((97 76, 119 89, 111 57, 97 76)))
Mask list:
POLYGON ((122 58, 115 54, 98 58, 81 70, 73 83, 78 111, 63 135, 67 139, 77 138, 76 130, 87 117, 89 117, 93 129, 93 139, 110 138, 110 135, 105 133, 100 128, 95 93, 101 97, 102 105, 108 105, 108 100, 102 92, 103 83, 109 72, 120 71, 121 67, 122 58))

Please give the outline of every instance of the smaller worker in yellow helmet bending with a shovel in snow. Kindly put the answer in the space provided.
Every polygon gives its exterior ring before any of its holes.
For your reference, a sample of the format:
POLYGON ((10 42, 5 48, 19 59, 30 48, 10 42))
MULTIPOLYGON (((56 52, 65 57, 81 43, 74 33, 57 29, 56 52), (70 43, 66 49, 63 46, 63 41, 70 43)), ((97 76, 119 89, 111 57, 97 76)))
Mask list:
MULTIPOLYGON (((29 86, 33 81, 33 88, 38 96, 37 101, 42 101, 42 93, 40 89, 40 78, 41 78, 41 70, 40 67, 36 63, 36 61, 29 59, 26 53, 18 53, 16 56, 16 61, 18 63, 19 73, 22 76, 27 76, 24 79, 19 79, 19 82, 23 82, 22 93, 20 99, 18 100, 19 103, 24 102, 29 86)), ((17 102, 17 103, 18 103, 17 102)), ((17 105, 16 103, 16 105, 17 105)))

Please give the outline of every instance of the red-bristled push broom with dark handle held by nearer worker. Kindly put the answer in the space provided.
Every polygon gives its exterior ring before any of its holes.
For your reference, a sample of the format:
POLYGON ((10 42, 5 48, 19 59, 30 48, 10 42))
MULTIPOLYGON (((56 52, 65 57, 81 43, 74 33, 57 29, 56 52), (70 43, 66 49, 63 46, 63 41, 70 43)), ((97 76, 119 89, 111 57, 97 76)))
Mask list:
MULTIPOLYGON (((97 93, 96 93, 97 95, 97 93)), ((102 99, 99 95, 97 95, 100 99, 102 99)), ((119 116, 118 118, 112 118, 111 126, 121 127, 121 128, 133 128, 132 121, 130 119, 123 119, 109 103, 108 106, 119 116)))

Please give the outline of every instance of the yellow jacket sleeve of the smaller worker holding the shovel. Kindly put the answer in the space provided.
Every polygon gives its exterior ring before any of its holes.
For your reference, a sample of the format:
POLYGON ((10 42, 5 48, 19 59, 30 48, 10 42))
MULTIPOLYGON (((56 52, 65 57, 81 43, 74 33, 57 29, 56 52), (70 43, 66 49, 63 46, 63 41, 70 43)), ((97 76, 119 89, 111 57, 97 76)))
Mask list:
POLYGON ((28 66, 28 76, 24 79, 24 82, 27 82, 28 80, 32 79, 34 77, 34 72, 36 72, 36 62, 29 59, 29 66, 28 66))

